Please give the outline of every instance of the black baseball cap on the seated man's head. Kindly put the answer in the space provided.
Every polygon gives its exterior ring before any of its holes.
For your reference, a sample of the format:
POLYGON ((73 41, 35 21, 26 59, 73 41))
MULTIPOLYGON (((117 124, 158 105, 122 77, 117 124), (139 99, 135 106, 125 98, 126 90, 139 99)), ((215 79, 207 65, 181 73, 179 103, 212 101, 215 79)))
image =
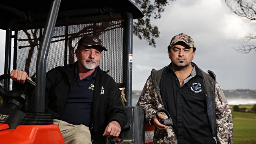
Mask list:
POLYGON ((79 48, 80 46, 96 46, 98 48, 102 48, 102 50, 107 51, 107 49, 105 48, 105 46, 101 45, 101 40, 100 38, 94 36, 94 35, 85 35, 84 37, 82 37, 79 41, 78 41, 78 45, 77 48, 79 48))

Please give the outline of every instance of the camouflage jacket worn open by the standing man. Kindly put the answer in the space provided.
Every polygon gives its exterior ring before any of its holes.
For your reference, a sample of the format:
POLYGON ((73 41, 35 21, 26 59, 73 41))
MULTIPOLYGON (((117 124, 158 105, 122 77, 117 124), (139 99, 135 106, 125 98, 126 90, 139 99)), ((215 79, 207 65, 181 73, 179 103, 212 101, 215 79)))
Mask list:
MULTIPOLYGON (((137 103, 139 106, 143 107, 145 120, 151 126, 154 125, 151 119, 156 114, 157 109, 164 108, 158 86, 161 76, 159 79, 155 79, 157 72, 159 73, 158 75, 161 75, 163 71, 152 70, 137 103)), ((204 77, 208 118, 213 138, 216 140, 217 144, 233 144, 232 115, 223 90, 215 81, 216 77, 213 72, 208 71, 211 76, 202 70, 200 70, 200 72, 202 72, 204 77)), ((153 143, 178 144, 173 127, 169 126, 166 130, 155 128, 153 143)))

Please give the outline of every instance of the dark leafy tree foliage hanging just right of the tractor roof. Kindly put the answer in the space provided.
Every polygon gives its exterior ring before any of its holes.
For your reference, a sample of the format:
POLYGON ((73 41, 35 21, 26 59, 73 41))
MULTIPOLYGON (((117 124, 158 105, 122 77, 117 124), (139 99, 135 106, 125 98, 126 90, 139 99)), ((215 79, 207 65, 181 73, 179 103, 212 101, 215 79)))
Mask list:
POLYGON ((154 0, 154 3, 151 0, 135 0, 145 17, 134 20, 134 35, 139 39, 145 39, 150 46, 156 47, 155 38, 160 34, 158 27, 151 24, 151 20, 161 18, 161 12, 168 1, 174 0, 154 0))

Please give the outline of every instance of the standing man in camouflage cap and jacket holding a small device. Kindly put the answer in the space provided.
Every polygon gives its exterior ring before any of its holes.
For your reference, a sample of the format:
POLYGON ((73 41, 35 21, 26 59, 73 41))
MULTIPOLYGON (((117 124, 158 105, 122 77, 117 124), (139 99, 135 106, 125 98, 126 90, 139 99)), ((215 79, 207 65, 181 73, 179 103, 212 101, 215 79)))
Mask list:
POLYGON ((168 46, 170 65, 153 69, 147 79, 138 105, 148 124, 156 126, 154 144, 233 143, 230 107, 215 74, 206 74, 192 62, 195 50, 190 36, 174 36, 168 46), (169 112, 172 126, 159 122, 159 109, 169 112))

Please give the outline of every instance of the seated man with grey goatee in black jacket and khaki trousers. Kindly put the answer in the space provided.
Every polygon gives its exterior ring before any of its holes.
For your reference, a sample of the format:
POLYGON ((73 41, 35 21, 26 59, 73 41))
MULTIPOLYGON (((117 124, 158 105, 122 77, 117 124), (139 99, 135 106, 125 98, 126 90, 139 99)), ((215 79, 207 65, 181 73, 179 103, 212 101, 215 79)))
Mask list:
MULTIPOLYGON (((126 124, 120 90, 114 79, 98 66, 101 40, 93 35, 78 42, 78 61, 46 73, 46 113, 52 114, 66 144, 103 144, 117 137, 126 124)), ((19 83, 30 79, 21 70, 12 70, 19 83)))

